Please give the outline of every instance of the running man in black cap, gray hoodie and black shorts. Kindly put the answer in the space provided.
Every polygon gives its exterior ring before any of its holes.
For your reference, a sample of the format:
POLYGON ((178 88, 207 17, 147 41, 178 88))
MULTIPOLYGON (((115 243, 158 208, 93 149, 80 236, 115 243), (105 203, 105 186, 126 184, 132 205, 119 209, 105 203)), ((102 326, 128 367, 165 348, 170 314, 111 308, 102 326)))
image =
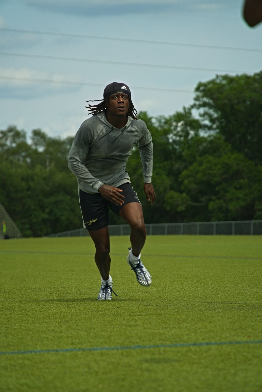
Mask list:
POLYGON ((137 145, 143 168, 144 192, 153 205, 156 200, 151 183, 153 143, 146 123, 136 118, 131 91, 125 83, 110 83, 104 89, 104 99, 98 101, 100 103, 96 105, 88 105, 89 114, 93 116, 85 120, 76 133, 68 166, 77 178, 84 227, 95 244, 95 262, 101 275, 98 299, 110 300, 113 280, 109 275, 109 208, 127 221, 131 228, 127 263, 140 285, 151 285, 151 276, 140 260, 146 241, 143 211, 131 186, 126 163, 137 145))

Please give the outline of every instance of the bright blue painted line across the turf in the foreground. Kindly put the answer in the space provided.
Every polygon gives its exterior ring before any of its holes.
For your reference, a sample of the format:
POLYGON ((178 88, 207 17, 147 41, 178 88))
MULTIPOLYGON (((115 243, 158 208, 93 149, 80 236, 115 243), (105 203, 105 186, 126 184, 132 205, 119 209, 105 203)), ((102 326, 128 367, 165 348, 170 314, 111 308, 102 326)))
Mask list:
POLYGON ((138 350, 146 348, 174 348, 174 347, 203 347, 203 346, 225 346, 225 345, 242 345, 242 344, 258 344, 262 340, 251 341, 232 341, 232 342, 205 342, 205 343, 174 343, 160 344, 149 346, 118 346, 118 347, 91 347, 91 348, 56 348, 49 350, 25 350, 25 351, 0 351, 0 355, 17 355, 17 354, 46 354, 52 352, 79 352, 79 351, 113 351, 113 350, 138 350))

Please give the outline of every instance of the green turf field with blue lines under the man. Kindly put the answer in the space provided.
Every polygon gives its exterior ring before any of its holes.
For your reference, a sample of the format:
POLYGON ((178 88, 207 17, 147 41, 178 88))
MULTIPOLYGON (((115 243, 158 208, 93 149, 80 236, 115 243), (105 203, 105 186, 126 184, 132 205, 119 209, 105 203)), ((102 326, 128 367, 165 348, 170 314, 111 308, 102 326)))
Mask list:
POLYGON ((129 245, 97 301, 90 237, 0 241, 0 391, 262 391, 262 237, 147 236, 148 288, 129 245))

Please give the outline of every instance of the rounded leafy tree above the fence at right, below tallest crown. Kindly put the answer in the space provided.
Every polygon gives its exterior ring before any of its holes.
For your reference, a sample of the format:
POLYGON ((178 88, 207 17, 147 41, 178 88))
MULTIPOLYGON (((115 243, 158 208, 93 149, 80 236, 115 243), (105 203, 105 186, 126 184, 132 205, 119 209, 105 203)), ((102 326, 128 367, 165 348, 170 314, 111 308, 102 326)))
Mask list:
POLYGON ((167 195, 166 209, 182 213, 183 221, 259 219, 261 174, 243 154, 204 155, 182 172, 182 192, 167 195))

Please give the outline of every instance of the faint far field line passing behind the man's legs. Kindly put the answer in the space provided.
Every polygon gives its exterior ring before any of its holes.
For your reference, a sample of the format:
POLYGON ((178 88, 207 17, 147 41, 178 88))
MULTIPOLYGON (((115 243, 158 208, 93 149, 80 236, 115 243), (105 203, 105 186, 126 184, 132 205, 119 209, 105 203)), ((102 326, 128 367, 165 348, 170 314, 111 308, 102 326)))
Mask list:
MULTIPOLYGON (((89 252, 42 252, 38 250, 0 250, 0 253, 29 253, 29 254, 78 254, 79 256, 93 256, 89 252)), ((122 253, 111 253, 111 256, 126 256, 122 253)), ((236 259, 236 260, 262 260, 262 257, 235 257, 235 256, 185 256, 181 254, 143 254, 143 257, 178 257, 200 259, 236 259)))

